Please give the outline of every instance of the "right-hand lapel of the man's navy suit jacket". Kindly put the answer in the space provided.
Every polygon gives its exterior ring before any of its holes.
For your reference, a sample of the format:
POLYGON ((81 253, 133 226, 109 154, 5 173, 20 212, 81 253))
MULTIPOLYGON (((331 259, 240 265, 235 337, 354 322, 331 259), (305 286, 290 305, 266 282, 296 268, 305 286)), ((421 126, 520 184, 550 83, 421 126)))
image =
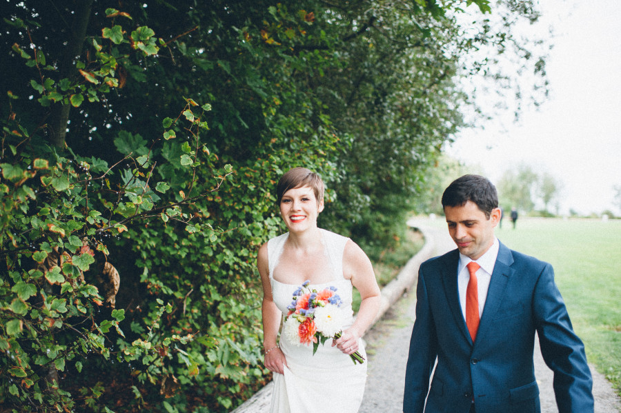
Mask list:
POLYGON ((513 275, 514 270, 511 268, 513 264, 513 255, 511 250, 506 248, 503 243, 500 243, 500 249, 498 250, 498 256, 494 265, 494 272, 489 282, 489 289, 487 290, 487 297, 485 299, 485 307, 483 308, 483 314, 481 315, 481 323, 479 324, 479 330, 477 332, 477 340, 482 336, 486 336, 488 330, 491 328, 491 320, 494 314, 498 310, 504 294, 506 294, 506 284, 513 275))

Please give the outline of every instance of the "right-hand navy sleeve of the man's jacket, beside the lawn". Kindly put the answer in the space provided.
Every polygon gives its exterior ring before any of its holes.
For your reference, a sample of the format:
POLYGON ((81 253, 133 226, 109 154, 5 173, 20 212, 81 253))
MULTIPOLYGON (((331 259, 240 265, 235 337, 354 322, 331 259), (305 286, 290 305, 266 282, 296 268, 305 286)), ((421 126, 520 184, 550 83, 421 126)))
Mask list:
POLYGON ((593 412, 593 379, 586 364, 584 344, 573 332, 549 264, 544 266, 535 286, 533 306, 542 356, 554 372, 559 413, 593 412))

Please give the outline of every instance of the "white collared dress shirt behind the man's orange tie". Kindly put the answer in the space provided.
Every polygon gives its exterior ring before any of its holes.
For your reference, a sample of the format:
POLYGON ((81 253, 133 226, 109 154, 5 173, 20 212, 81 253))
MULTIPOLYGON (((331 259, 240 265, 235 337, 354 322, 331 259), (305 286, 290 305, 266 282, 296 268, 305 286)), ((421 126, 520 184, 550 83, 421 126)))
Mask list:
MULTIPOLYGON (((489 288, 489 281, 491 280, 491 274, 494 272, 494 265, 498 256, 498 249, 500 243, 496 237, 494 237, 494 243, 489 250, 475 261, 479 264, 477 274, 477 293, 479 294, 479 317, 483 314, 483 308, 485 307, 485 299, 487 298, 487 290, 489 288)), ((460 253, 460 263, 457 272, 457 287, 460 292, 460 304, 462 305, 462 314, 464 314, 464 320, 466 319, 466 289, 468 288, 468 282, 470 281, 470 272, 466 265, 471 260, 468 256, 460 253)))

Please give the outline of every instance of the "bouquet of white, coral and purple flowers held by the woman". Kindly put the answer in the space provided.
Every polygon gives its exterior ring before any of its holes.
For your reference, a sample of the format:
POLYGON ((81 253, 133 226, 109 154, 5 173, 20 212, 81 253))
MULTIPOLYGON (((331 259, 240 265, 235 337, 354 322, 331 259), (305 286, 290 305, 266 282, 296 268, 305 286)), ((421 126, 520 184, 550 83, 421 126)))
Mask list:
MULTIPOLYGON (((304 283, 293 292, 293 301, 288 305, 289 310, 283 325, 283 335, 295 345, 311 345, 313 354, 317 352, 319 344, 328 339, 338 339, 343 330, 344 314, 340 309, 341 298, 335 294, 335 287, 328 287, 317 292, 311 290, 304 283)), ((350 354, 355 363, 364 363, 364 357, 355 352, 350 354)))

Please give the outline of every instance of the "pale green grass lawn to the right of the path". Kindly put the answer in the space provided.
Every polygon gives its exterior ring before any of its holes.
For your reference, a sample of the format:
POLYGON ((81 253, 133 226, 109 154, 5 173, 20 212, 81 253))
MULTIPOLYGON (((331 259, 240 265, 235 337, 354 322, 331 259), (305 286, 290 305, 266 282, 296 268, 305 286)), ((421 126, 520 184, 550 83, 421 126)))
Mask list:
POLYGON ((621 392, 621 220, 520 218, 496 230, 513 250, 551 263, 586 357, 621 392))

